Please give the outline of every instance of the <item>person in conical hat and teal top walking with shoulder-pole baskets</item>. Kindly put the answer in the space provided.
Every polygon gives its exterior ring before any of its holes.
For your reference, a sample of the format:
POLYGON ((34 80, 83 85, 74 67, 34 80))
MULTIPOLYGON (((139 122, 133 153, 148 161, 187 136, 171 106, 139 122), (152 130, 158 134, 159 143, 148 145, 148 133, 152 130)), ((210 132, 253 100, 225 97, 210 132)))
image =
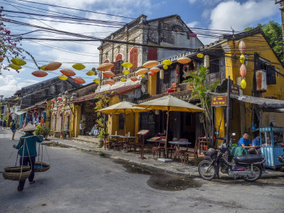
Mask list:
MULTIPOLYGON (((13 147, 18 149, 18 155, 20 155, 20 165, 30 165, 31 166, 31 175, 28 177, 30 184, 35 183, 33 178, 35 177, 34 167, 35 167, 35 157, 36 153, 36 142, 41 143, 43 141, 43 136, 33 135, 35 127, 32 124, 28 124, 23 128, 26 134, 21 136, 18 141, 18 145, 13 144, 13 147)), ((25 185, 26 180, 21 180, 18 182, 18 191, 23 191, 23 186, 25 185)))

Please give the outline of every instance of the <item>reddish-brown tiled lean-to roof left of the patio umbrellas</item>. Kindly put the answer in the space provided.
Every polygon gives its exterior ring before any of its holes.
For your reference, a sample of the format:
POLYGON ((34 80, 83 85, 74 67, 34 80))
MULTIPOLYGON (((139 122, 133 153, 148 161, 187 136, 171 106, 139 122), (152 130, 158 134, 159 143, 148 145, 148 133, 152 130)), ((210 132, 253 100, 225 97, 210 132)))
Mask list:
MULTIPOLYGON (((131 92, 135 89, 139 89, 142 87, 142 84, 133 84, 133 85, 130 85, 130 86, 126 86, 126 87, 119 87, 119 88, 116 88, 116 89, 110 89, 108 90, 109 94, 113 95, 113 94, 118 94, 118 95, 121 95, 121 94, 125 94, 127 92, 131 92), (114 93, 112 93, 114 92, 114 93)), ((78 102, 85 102, 85 101, 89 101, 89 100, 92 100, 94 99, 97 94, 104 94, 105 91, 103 92, 93 92, 91 94, 87 94, 87 95, 84 95, 82 97, 78 97, 77 99, 74 99, 72 100, 70 103, 78 103, 78 102)))

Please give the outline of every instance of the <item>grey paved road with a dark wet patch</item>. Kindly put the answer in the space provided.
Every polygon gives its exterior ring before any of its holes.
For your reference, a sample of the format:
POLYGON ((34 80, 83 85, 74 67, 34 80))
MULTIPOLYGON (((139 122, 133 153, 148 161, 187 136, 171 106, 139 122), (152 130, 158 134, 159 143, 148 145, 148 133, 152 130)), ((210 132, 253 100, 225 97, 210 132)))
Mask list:
MULTIPOLYGON (((0 130, 1 170, 15 163, 15 151, 8 160, 13 143, 11 132, 0 130)), ((0 212, 284 212, 283 178, 208 182, 151 173, 74 148, 47 149, 50 170, 35 173, 35 184, 23 192, 18 182, 0 178, 0 212)), ((46 154, 43 159, 48 163, 46 154)))

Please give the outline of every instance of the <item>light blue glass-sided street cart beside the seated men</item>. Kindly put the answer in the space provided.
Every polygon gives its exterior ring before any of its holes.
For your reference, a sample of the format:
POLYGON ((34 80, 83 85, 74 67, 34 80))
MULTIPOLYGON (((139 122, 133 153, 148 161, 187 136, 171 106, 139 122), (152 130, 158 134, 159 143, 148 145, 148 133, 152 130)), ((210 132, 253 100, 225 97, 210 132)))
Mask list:
POLYGON ((265 167, 275 169, 284 166, 284 163, 280 163, 277 159, 278 156, 283 155, 284 147, 281 146, 284 143, 283 127, 259 127, 258 131, 261 139, 261 155, 266 158, 265 167))

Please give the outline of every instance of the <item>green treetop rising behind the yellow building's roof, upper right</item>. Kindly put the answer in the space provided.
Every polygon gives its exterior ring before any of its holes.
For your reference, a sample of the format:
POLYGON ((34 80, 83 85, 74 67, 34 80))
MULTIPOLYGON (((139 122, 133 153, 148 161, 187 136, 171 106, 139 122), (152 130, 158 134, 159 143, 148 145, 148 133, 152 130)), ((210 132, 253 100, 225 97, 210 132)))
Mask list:
MULTIPOLYGON (((284 62, 283 55, 283 38, 281 25, 275 21, 269 21, 266 24, 261 25, 258 23, 258 27, 261 27, 263 33, 268 39, 268 43, 272 46, 276 55, 280 58, 281 62, 284 62)), ((253 27, 245 28, 244 31, 251 31, 253 27)))

